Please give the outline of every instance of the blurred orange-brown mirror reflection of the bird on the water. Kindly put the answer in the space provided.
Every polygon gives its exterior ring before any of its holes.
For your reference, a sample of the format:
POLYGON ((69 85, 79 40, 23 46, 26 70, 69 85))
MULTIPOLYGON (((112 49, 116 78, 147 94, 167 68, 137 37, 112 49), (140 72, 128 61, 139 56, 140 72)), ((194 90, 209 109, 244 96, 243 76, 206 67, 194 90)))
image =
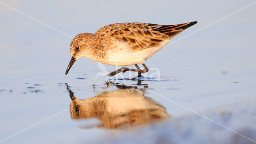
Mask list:
POLYGON ((126 126, 148 124, 156 120, 163 120, 169 115, 166 109, 157 104, 152 98, 144 96, 144 89, 136 86, 124 86, 106 83, 119 88, 105 91, 97 96, 80 100, 70 93, 70 116, 72 119, 97 118, 100 120, 98 128, 122 129, 126 126))

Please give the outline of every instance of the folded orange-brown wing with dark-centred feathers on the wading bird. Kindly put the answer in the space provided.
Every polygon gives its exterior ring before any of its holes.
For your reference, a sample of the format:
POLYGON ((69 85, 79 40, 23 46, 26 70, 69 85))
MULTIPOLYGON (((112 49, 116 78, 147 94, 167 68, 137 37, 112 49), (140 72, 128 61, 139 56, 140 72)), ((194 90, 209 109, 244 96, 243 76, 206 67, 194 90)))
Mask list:
POLYGON ((106 34, 104 37, 106 40, 109 40, 110 44, 114 38, 115 40, 129 44, 133 50, 143 50, 162 45, 162 42, 169 42, 174 36, 194 24, 196 22, 176 25, 119 23, 105 26, 99 31, 106 34))

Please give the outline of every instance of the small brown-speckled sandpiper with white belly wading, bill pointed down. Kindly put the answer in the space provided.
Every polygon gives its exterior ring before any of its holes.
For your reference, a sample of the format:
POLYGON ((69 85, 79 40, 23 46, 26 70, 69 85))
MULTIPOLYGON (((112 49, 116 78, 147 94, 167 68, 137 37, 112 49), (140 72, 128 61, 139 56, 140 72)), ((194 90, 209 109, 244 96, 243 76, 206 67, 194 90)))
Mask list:
POLYGON ((136 69, 122 67, 106 76, 133 71, 138 72, 140 77, 142 73, 148 72, 144 64, 145 60, 161 50, 174 36, 196 23, 196 21, 175 25, 116 23, 100 28, 95 34, 78 34, 70 43, 72 58, 65 74, 68 74, 76 60, 86 57, 113 66, 136 66, 136 69), (142 64, 144 69, 140 69, 138 64, 142 64))

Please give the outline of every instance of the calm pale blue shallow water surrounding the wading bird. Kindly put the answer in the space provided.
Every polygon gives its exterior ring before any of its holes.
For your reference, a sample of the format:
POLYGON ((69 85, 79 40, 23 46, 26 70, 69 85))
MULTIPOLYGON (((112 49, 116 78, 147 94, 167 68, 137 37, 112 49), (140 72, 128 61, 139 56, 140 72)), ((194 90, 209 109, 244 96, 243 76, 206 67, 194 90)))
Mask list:
MULTIPOLYGON (((150 7, 148 2, 144 8, 134 6, 135 2, 125 4, 136 12, 118 7, 122 3, 114 7, 102 2, 99 11, 86 19, 81 19, 82 14, 94 10, 92 2, 4 3, 71 36, 115 22, 198 20, 175 41, 252 1, 156 4, 163 16, 150 18, 136 17, 150 7), (170 5, 176 7, 170 10, 170 5), (113 13, 116 16, 107 17, 113 13), (166 20, 167 13, 172 19, 166 20)), ((256 140, 254 5, 166 46, 145 62, 150 71, 140 78, 128 72, 104 77, 116 67, 87 58, 77 60, 65 75, 71 38, 1 4, 0 11, 2 143, 250 144, 256 140)))

